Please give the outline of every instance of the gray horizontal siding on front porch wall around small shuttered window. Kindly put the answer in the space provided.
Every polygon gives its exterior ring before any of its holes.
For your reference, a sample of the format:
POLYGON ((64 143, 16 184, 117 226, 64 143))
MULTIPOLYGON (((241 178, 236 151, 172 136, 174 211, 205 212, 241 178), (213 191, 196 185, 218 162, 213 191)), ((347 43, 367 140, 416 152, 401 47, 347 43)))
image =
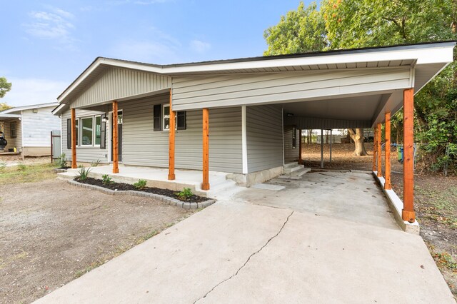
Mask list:
MULTIPOLYGON (((169 95, 119 103, 124 121, 122 163, 133 166, 169 166, 169 131, 153 131, 153 106, 169 103, 169 95)), ((202 169, 202 113, 186 112, 186 130, 177 130, 175 167, 202 169)), ((241 108, 209 111, 209 170, 242 172, 241 108)))

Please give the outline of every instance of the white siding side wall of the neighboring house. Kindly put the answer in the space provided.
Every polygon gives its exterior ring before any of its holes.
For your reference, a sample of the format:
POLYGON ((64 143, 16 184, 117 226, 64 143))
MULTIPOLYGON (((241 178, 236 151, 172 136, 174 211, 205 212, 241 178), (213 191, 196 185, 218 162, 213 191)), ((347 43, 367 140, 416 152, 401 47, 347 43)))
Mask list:
POLYGON ((51 131, 60 130, 59 116, 52 115, 54 107, 36 108, 22 111, 22 128, 24 128, 24 147, 50 147, 51 131))

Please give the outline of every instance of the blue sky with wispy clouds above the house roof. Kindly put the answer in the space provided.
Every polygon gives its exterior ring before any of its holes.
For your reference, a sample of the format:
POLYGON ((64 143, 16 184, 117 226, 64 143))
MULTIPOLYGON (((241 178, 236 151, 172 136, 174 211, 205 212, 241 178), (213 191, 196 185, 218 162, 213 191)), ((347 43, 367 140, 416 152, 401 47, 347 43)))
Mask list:
POLYGON ((13 83, 0 101, 56 101, 97 56, 152 64, 261 56, 263 31, 298 2, 0 0, 0 76, 13 83))

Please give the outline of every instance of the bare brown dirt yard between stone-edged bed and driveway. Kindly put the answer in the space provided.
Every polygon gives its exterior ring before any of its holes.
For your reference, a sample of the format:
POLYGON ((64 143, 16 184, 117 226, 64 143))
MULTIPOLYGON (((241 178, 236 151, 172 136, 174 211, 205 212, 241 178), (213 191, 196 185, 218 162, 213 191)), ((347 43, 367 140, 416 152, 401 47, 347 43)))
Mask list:
POLYGON ((190 216, 55 178, 0 186, 0 303, 30 303, 190 216))

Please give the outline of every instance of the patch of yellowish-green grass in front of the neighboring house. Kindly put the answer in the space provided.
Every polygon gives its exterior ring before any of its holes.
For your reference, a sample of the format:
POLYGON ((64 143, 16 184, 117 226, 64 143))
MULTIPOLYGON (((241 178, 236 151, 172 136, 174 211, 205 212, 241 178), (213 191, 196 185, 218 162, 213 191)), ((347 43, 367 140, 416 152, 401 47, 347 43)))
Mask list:
POLYGON ((1 169, 0 185, 10 183, 31 183, 36 181, 44 181, 55 178, 56 173, 53 171, 52 163, 37 164, 37 165, 19 165, 1 169))

